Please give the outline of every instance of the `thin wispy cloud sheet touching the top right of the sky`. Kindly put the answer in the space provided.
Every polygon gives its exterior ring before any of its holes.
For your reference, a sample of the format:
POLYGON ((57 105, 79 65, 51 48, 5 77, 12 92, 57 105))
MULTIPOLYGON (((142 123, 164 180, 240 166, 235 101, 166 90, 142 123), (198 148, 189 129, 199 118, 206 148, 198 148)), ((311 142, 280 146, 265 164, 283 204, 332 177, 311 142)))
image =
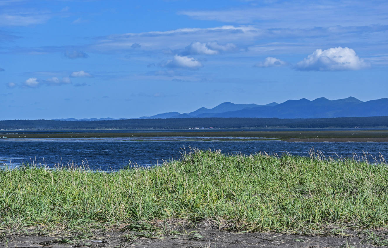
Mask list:
POLYGON ((365 4, 364 1, 305 2, 282 1, 260 7, 240 7, 218 10, 185 10, 178 14, 198 20, 252 24, 260 21, 262 27, 314 27, 342 25, 369 25, 386 22, 388 3, 383 0, 365 4), (311 22, 314 20, 314 22, 311 22))

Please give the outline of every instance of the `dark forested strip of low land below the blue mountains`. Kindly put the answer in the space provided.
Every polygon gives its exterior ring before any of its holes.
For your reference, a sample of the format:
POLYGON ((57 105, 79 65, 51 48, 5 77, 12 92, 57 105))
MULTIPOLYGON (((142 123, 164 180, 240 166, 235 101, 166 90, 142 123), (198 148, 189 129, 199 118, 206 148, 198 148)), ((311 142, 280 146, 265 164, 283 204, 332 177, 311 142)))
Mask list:
POLYGON ((95 130, 95 129, 181 129, 181 128, 355 128, 388 127, 388 116, 314 119, 279 118, 168 118, 104 121, 3 120, 0 129, 95 130))

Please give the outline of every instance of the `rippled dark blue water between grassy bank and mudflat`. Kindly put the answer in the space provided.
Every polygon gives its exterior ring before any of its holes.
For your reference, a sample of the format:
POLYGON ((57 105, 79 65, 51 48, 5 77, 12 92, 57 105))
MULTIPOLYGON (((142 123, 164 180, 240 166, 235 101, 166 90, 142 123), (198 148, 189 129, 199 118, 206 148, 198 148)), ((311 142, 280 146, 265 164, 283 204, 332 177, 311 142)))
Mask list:
POLYGON ((381 153, 388 157, 388 142, 285 142, 236 137, 156 137, 156 138, 94 138, 94 139, 9 139, 0 140, 0 165, 17 166, 36 162, 54 167, 55 164, 87 163, 90 169, 117 170, 130 162, 141 166, 161 164, 162 160, 177 159, 183 148, 220 149, 224 153, 255 154, 291 152, 309 156, 314 148, 325 156, 372 157, 381 153))

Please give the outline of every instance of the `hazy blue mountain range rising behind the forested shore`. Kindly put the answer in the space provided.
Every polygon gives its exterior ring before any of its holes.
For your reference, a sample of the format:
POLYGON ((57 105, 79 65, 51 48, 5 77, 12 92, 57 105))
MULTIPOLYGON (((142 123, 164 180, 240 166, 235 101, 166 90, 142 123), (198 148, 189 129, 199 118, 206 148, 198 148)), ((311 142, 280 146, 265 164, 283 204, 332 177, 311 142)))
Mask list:
POLYGON ((252 118, 334 118, 388 116, 388 98, 360 101, 355 97, 329 100, 325 97, 310 101, 306 98, 288 100, 284 103, 234 104, 221 103, 214 108, 199 108, 190 113, 168 112, 140 119, 154 118, 209 118, 209 117, 252 117, 252 118))

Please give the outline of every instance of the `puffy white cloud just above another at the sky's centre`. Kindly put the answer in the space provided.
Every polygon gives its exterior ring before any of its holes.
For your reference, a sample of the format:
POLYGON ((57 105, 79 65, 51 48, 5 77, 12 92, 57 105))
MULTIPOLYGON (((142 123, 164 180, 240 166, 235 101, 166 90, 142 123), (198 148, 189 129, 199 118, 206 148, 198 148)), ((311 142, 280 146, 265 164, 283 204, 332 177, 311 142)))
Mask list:
POLYGON ((199 41, 194 41, 189 46, 185 47, 184 55, 189 55, 189 54, 215 55, 220 53, 220 51, 233 51, 233 50, 236 50, 236 45, 234 45, 233 43, 220 45, 217 43, 217 41, 212 41, 208 43, 201 43, 199 41))

